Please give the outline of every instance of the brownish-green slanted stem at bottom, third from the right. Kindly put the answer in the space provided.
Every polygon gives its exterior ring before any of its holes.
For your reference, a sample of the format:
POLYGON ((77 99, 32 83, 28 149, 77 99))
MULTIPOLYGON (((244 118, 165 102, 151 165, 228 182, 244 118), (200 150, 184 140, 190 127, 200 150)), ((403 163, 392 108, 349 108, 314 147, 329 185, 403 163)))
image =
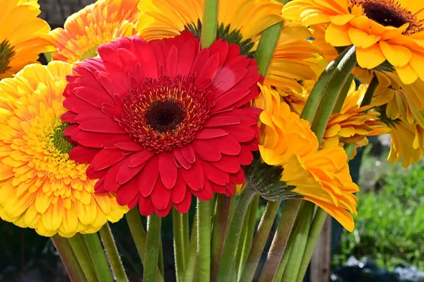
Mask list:
POLYGON ((293 225, 295 225, 300 204, 302 204, 302 200, 300 199, 291 199, 285 202, 283 214, 281 215, 276 234, 273 237, 259 281, 273 281, 274 276, 276 276, 278 266, 287 246, 288 238, 292 232, 293 225))

